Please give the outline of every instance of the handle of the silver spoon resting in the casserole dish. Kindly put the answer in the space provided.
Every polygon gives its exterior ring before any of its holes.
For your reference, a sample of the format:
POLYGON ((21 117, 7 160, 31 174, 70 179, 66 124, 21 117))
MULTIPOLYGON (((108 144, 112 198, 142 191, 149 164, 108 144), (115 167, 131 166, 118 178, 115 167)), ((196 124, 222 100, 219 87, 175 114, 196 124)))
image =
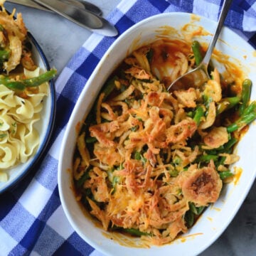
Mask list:
POLYGON ((201 63, 202 65, 208 65, 208 63, 210 61, 210 57, 213 53, 213 48, 214 48, 215 43, 218 39, 218 36, 220 35, 221 28, 223 27, 225 17, 228 14, 228 10, 229 10, 229 7, 230 7, 230 4, 232 3, 232 1, 233 0, 224 0, 223 7, 220 11, 220 16, 219 16, 219 19, 218 19, 218 26, 215 28, 215 32, 213 33, 213 37, 211 38, 210 44, 209 44, 208 49, 206 51, 206 55, 202 60, 202 63, 201 63))

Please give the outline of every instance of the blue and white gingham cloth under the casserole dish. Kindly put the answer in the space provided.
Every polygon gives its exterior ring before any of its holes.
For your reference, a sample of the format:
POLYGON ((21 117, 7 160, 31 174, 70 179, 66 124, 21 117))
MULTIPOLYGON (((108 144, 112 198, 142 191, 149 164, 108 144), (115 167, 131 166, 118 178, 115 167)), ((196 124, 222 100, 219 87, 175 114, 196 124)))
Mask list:
MULTIPOLYGON (((119 34, 144 18, 164 12, 186 11, 217 21, 222 3, 220 0, 123 0, 108 19, 119 34)), ((255 0, 233 1, 225 24, 255 47, 255 0)), ((58 195, 58 152, 80 92, 114 40, 92 34, 55 81, 57 113, 48 151, 16 188, 0 195, 0 255, 100 255, 74 232, 65 218, 58 195)))

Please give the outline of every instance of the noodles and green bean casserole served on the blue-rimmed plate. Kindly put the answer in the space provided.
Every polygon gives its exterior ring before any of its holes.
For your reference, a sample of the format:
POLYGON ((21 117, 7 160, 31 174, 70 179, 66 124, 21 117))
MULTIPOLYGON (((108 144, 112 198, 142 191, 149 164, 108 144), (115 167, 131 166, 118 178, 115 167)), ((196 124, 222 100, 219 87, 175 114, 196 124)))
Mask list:
POLYGON ((14 18, 1 1, 0 11, 0 181, 8 180, 11 167, 36 153, 48 80, 56 70, 41 73, 33 61, 32 45, 21 14, 14 18))

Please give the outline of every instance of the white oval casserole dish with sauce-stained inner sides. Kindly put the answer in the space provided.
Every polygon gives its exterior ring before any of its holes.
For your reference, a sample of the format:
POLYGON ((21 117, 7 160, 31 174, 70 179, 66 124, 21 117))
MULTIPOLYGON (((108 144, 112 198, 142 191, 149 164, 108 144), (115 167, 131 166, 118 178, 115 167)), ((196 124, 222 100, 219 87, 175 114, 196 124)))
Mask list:
MULTIPOLYGON (((110 233, 106 233, 99 225, 95 225, 91 218, 85 216, 85 213, 82 212, 77 201, 75 201, 72 190, 73 177, 71 171, 68 170, 72 169, 73 166, 73 151, 77 138, 76 124, 86 117, 104 82, 114 68, 117 68, 117 65, 129 53, 132 53, 132 50, 145 43, 155 41, 165 26, 171 26, 179 30, 188 23, 191 24, 190 29, 192 30, 198 28, 198 26, 203 26, 206 31, 212 32, 215 28, 215 22, 207 18, 198 17, 194 14, 170 13, 147 18, 124 32, 107 50, 97 68, 95 68, 82 90, 68 122, 58 166, 60 200, 70 224, 78 235, 105 255, 198 255, 209 247, 227 228, 255 180, 255 144, 252 144, 252 142, 256 139, 256 127, 251 124, 249 131, 236 149, 240 161, 235 166, 241 170, 240 176, 236 176, 235 181, 224 186, 218 201, 207 208, 188 233, 181 235, 169 245, 152 246, 150 248, 136 247, 138 241, 136 238, 129 238, 129 240, 132 240, 132 242, 129 242, 130 244, 133 243, 132 246, 120 245, 116 240, 110 239, 110 233)), ((210 35, 208 34, 208 36, 202 36, 200 41, 208 42, 209 38, 210 35)), ((255 81, 256 74, 253 72, 255 70, 255 50, 240 36, 228 28, 223 28, 216 48, 234 58, 234 61, 238 61, 247 78, 255 81)), ((255 100, 255 96, 254 86, 252 87, 251 100, 255 100)), ((124 239, 121 237, 122 235, 119 235, 119 240, 121 239, 124 244, 124 239)))

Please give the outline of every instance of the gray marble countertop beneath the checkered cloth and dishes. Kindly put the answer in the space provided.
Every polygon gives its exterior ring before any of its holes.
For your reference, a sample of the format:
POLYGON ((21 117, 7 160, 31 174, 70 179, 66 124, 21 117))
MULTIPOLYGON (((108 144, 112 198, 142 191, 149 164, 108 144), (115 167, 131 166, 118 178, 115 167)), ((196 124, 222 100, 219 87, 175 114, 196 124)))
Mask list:
MULTIPOLYGON (((103 16, 107 16, 119 0, 91 2, 102 9, 103 16)), ((28 30, 43 49, 50 66, 57 68, 59 73, 91 35, 90 31, 57 14, 9 3, 5 6, 8 10, 15 7, 23 14, 28 30)), ((201 253, 201 256, 211 255, 256 255, 256 183, 223 235, 201 253)))

